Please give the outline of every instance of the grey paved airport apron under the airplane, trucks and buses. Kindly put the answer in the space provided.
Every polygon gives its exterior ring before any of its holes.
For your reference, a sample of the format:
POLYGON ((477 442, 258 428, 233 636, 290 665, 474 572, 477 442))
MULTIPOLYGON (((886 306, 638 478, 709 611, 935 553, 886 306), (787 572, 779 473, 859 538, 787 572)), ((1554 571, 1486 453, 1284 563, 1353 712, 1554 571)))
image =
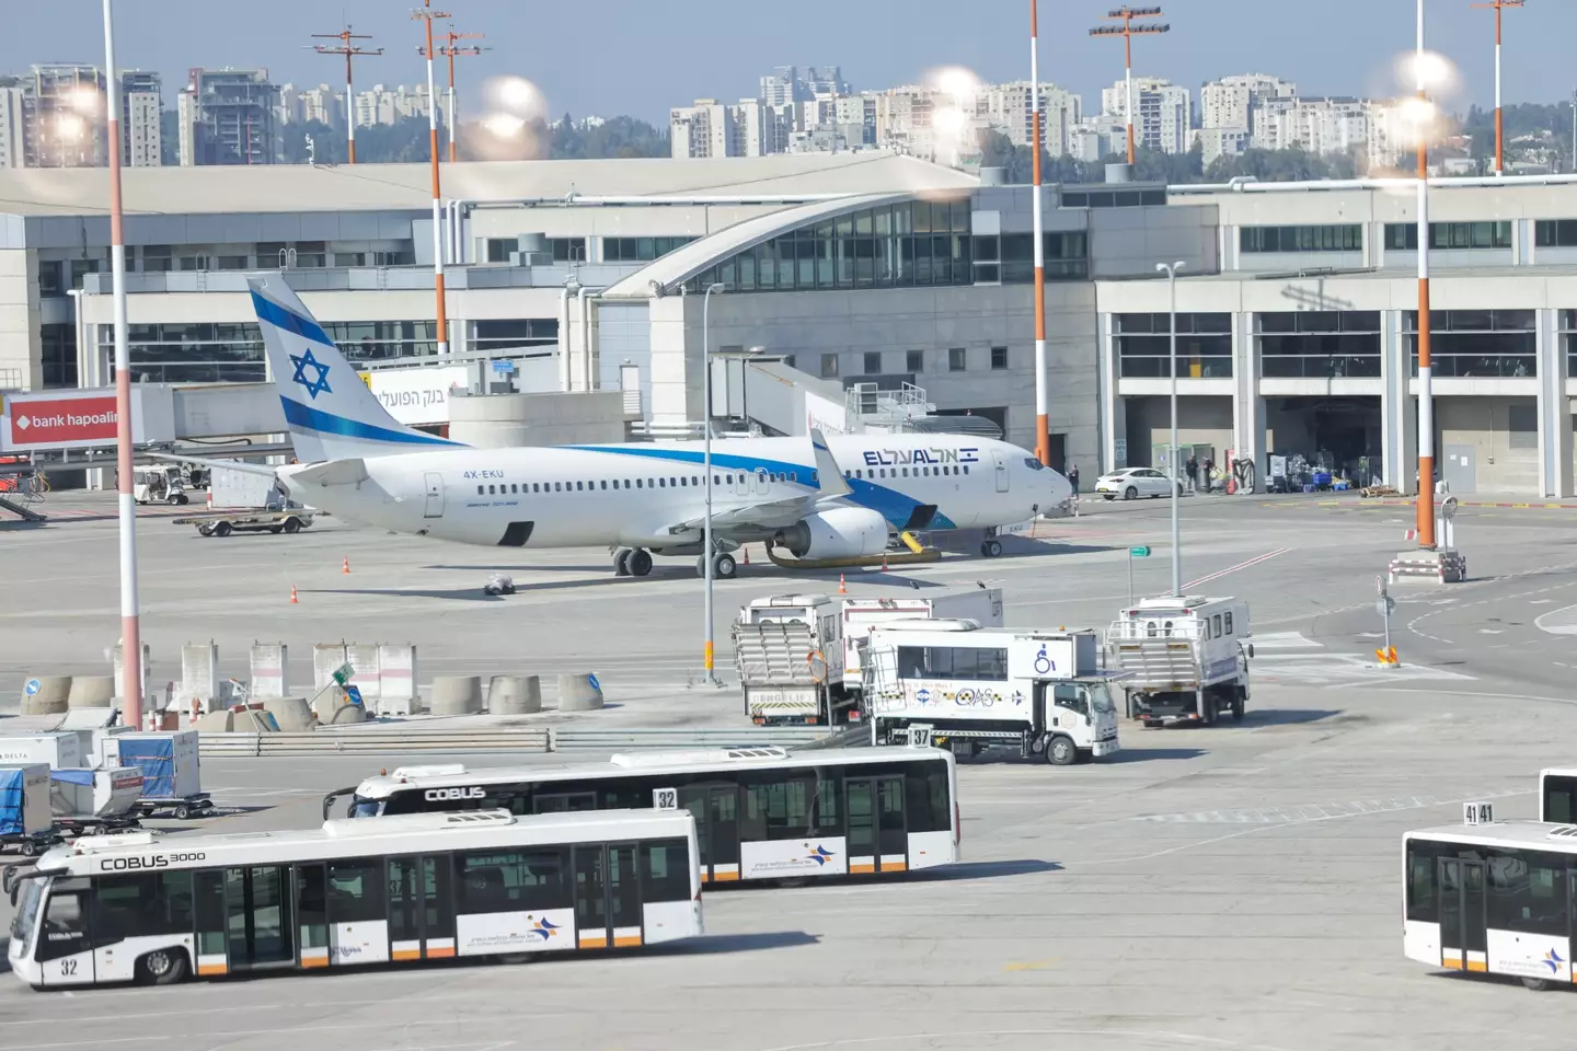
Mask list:
MULTIPOLYGON (((0 980, 0 1032, 6 1046, 82 1051, 1566 1046, 1569 990, 1445 977, 1402 956, 1399 848, 1407 829, 1457 819, 1463 800, 1533 816, 1536 771, 1574 761, 1577 657, 1563 629, 1577 624, 1577 517, 1463 511, 1473 580, 1399 589, 1404 667, 1381 671, 1370 667, 1374 577, 1405 547, 1407 507, 1199 498, 1184 515, 1183 580, 1214 577, 1189 589, 1252 607, 1249 719, 1124 725, 1124 752, 1099 764, 962 766, 965 862, 954 870, 713 892, 706 938, 636 955, 69 999, 0 980)), ((399 632, 429 668, 585 667, 648 722, 738 719, 732 692, 684 690, 700 619, 688 564, 615 581, 602 551, 500 561, 344 526, 224 542, 142 528, 161 678, 186 638, 218 638, 240 676, 252 638, 306 652, 320 638, 399 632), (492 564, 527 589, 479 600, 492 564), (285 605, 290 583, 298 607, 285 605)), ((1128 600, 1134 544, 1156 550, 1134 561, 1139 592, 1167 586, 1162 501, 1096 506, 1047 531, 1057 542, 1014 558, 863 574, 850 588, 979 578, 1006 589, 1009 624, 1101 627, 1128 600)), ((115 630, 112 558, 112 523, 0 534, 0 569, 28 602, 0 611, 0 684, 46 662, 101 667, 115 630)), ((719 585, 719 635, 738 602, 809 588, 836 578, 752 566, 719 585)), ((383 763, 210 759, 207 786, 238 813, 207 827, 312 824, 323 789, 383 763)))

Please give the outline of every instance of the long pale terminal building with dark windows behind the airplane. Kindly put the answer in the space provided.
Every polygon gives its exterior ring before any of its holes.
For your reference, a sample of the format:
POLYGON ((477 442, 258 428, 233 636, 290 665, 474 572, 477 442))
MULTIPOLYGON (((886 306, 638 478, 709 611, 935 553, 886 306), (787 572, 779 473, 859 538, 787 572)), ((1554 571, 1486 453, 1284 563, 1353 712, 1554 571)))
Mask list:
MULTIPOLYGON (((992 176, 885 153, 446 165, 449 350, 511 364, 465 383, 435 361, 435 375, 456 394, 617 391, 606 400, 636 438, 711 416, 768 433, 978 425, 1030 446, 1031 191, 992 176), (722 358, 710 413, 703 350, 722 358)), ((106 178, 0 172, 0 389, 110 383, 106 178)), ((426 165, 125 180, 137 381, 265 380, 254 269, 285 269, 374 377, 435 353, 426 165)), ((1164 462, 1172 299, 1156 265, 1181 262, 1184 449, 1249 462, 1260 484, 1288 455, 1416 488, 1411 192, 1046 195, 1055 465, 1093 477, 1164 462)), ((1577 184, 1463 181, 1432 194, 1432 219, 1445 481, 1572 495, 1577 184)), ((402 419, 446 425, 454 399, 437 402, 402 419)))

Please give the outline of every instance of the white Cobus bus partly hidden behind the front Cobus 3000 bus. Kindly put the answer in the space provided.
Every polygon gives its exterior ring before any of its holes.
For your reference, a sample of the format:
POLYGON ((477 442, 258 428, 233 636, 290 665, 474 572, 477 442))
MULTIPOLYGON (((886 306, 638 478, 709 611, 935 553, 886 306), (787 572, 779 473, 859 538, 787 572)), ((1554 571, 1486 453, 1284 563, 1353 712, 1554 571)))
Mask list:
POLYGON ((695 815, 702 882, 902 873, 959 860, 957 774, 940 748, 642 752, 609 763, 369 777, 352 816, 680 808, 695 815))

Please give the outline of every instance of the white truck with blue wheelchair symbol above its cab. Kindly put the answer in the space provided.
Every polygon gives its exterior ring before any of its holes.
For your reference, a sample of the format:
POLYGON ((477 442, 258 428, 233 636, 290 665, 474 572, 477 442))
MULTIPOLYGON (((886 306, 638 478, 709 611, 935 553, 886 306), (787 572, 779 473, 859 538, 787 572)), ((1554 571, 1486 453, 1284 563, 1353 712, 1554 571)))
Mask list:
POLYGON ((1027 632, 973 621, 897 621, 864 644, 875 745, 1011 748, 1052 766, 1115 755, 1118 676, 1094 632, 1027 632))

